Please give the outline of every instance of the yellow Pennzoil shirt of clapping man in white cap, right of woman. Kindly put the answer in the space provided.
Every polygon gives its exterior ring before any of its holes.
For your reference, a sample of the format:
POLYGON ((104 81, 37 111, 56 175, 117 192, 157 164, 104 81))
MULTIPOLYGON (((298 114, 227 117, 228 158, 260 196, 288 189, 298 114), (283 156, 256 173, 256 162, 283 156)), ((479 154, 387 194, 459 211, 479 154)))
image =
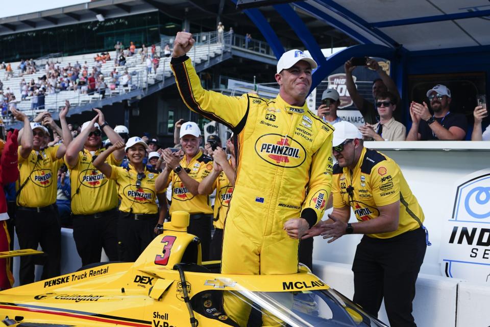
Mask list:
MULTIPOLYGON (((185 156, 180 160, 180 166, 187 172, 190 178, 201 182, 213 170, 213 159, 201 151, 190 160, 187 165, 185 156)), ((207 195, 192 195, 179 175, 171 171, 168 175, 167 185, 172 182, 172 203, 170 204, 170 216, 174 211, 185 211, 189 214, 212 214, 213 209, 207 195)))

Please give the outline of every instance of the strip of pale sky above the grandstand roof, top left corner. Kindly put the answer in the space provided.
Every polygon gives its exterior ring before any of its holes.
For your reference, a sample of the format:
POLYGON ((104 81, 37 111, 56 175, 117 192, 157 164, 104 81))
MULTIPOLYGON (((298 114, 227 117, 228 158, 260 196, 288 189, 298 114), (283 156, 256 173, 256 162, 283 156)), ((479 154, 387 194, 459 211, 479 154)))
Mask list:
POLYGON ((70 5, 82 4, 89 2, 87 0, 21 0, 21 1, 2 1, 0 18, 21 14, 27 14, 36 11, 66 7, 70 5))

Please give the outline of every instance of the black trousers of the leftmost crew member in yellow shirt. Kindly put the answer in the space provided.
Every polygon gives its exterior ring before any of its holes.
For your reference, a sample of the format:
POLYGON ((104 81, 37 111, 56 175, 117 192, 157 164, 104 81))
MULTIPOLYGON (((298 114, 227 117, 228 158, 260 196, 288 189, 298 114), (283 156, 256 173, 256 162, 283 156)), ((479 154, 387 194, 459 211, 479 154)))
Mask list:
POLYGON ((58 209, 52 205, 45 212, 38 213, 17 208, 15 215, 15 231, 20 249, 34 249, 41 245, 43 256, 23 255, 20 257, 19 284, 34 282, 34 265, 42 258, 44 267, 41 279, 60 275, 61 226, 58 209))

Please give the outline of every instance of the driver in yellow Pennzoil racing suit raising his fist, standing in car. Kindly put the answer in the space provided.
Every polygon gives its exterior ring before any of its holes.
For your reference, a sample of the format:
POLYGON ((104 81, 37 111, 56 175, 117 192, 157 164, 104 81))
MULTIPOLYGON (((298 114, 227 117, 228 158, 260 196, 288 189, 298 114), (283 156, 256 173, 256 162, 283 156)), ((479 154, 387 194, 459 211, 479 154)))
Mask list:
MULTIPOLYGON (((296 273, 298 239, 322 218, 332 180, 333 128, 305 103, 317 65, 302 51, 288 51, 278 62, 276 99, 229 97, 202 88, 185 55, 193 42, 186 32, 174 42, 171 67, 181 97, 189 109, 237 135, 222 273, 296 273)), ((246 325, 250 309, 238 302, 225 296, 225 310, 246 325)))

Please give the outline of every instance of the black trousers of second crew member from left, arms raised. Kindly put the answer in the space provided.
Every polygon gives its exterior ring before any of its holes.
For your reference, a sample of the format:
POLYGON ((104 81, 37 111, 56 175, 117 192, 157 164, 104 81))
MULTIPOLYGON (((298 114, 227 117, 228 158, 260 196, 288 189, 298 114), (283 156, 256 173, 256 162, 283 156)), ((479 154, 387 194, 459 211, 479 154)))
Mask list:
POLYGON ((109 261, 118 261, 117 216, 116 210, 99 218, 95 215, 73 216, 73 238, 82 266, 101 262, 102 248, 109 261))

